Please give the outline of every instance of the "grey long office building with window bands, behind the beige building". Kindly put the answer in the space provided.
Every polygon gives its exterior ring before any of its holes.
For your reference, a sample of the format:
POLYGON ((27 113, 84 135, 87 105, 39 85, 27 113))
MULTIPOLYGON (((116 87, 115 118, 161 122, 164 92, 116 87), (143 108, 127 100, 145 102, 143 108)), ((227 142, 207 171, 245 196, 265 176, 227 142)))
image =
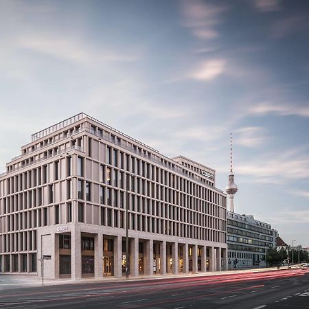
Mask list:
POLYGON ((252 215, 227 211, 229 268, 266 266, 268 248, 275 248, 276 231, 252 215))

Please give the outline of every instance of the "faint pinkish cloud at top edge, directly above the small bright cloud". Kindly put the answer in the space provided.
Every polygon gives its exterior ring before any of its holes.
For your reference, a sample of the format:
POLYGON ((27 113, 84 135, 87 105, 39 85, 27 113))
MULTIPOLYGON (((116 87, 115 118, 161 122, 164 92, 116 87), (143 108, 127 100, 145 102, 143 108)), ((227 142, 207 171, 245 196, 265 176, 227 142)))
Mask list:
POLYGON ((183 25, 199 39, 209 40, 219 36, 216 26, 222 23, 222 13, 226 6, 203 3, 202 1, 182 1, 183 25))

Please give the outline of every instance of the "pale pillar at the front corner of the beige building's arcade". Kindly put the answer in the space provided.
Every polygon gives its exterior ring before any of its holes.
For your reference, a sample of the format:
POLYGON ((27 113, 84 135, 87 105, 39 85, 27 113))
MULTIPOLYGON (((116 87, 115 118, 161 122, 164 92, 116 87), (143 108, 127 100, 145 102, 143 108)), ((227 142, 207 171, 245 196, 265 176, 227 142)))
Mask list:
POLYGON ((71 231, 71 278, 82 278, 82 238, 76 225, 72 226, 71 231))

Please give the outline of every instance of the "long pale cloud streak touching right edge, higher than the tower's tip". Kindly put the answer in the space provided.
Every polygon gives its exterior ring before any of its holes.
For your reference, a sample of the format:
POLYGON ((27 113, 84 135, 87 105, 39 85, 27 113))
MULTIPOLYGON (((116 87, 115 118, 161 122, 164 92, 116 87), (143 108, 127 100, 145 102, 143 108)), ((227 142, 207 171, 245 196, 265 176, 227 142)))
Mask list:
POLYGON ((279 116, 296 115, 301 117, 309 117, 309 106, 297 106, 290 104, 274 104, 270 102, 262 102, 249 107, 251 115, 273 114, 279 116))

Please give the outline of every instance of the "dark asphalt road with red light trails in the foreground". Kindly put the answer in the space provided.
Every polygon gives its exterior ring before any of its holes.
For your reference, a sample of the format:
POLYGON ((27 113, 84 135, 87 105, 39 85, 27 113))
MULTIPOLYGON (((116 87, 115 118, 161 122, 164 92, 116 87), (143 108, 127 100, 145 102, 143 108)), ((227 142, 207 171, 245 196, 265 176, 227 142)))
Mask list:
POLYGON ((309 308, 309 269, 14 288, 1 308, 309 308))

